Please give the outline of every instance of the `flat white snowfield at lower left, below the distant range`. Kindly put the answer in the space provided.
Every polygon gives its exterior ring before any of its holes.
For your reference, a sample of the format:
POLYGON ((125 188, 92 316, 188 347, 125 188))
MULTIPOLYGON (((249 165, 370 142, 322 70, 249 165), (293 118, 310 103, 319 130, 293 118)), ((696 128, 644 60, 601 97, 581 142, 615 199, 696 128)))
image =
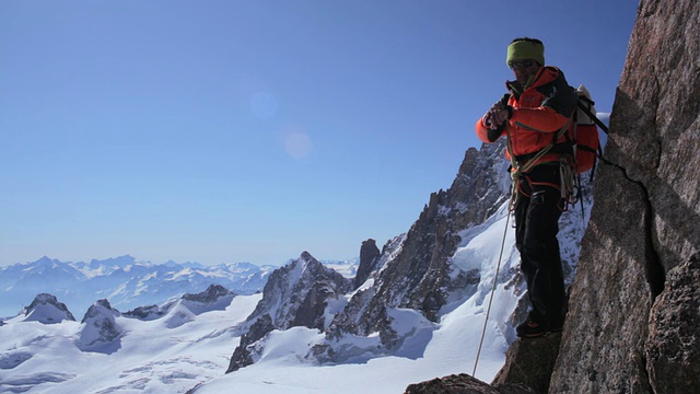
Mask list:
POLYGON ((0 326, 0 392, 185 392, 223 374, 237 341, 233 327, 259 299, 235 297, 224 310, 174 328, 168 315, 148 322, 113 315, 121 333, 113 352, 81 350, 85 331, 95 334, 88 328, 94 318, 50 325, 8 320, 0 326))

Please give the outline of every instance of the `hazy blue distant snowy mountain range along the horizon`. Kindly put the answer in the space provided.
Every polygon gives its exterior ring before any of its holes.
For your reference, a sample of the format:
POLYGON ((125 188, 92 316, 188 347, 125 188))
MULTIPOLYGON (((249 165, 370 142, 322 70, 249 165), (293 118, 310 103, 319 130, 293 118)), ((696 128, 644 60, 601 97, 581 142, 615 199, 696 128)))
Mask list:
MULTIPOLYGON (((325 262, 353 277, 357 260, 325 262)), ((42 257, 33 263, 0 267, 0 316, 14 316, 39 293, 50 293, 82 316, 97 300, 115 309, 162 304, 184 293, 198 293, 220 285, 237 294, 261 291, 268 276, 279 267, 250 263, 205 266, 198 263, 152 264, 125 255, 90 263, 42 257)))

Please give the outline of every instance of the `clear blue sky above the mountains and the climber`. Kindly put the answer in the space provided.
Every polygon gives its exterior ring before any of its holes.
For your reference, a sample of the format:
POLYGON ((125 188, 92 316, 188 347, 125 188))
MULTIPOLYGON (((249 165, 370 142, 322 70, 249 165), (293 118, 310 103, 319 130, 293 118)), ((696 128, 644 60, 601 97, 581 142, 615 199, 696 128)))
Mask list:
POLYGON ((382 247, 480 146, 511 39, 610 112, 637 8, 1 0, 0 265, 382 247))

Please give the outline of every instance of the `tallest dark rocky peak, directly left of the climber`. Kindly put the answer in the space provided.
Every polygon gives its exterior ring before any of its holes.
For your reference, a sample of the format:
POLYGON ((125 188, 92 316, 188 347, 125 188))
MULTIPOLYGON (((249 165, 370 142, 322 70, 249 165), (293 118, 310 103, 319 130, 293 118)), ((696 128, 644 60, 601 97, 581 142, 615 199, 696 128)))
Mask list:
POLYGON ((475 288, 470 285, 478 282, 478 274, 455 271, 450 257, 462 241, 459 233, 482 223, 508 199, 503 149, 503 143, 494 143, 467 150, 452 186, 430 196, 408 233, 382 252, 374 283, 355 292, 335 316, 329 340, 380 333, 382 346, 390 352, 401 337, 392 328, 389 310, 413 309, 434 322, 455 292, 475 288))

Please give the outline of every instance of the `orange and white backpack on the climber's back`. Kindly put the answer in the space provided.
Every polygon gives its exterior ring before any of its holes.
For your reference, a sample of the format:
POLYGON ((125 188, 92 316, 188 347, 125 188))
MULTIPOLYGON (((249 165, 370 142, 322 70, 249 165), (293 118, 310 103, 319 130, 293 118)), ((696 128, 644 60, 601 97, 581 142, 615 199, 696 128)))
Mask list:
POLYGON ((581 174, 593 170, 597 158, 602 155, 597 125, 604 130, 607 128, 596 117, 595 103, 591 100, 591 93, 586 86, 579 85, 576 94, 579 100, 573 116, 574 127, 569 129, 568 138, 574 144, 574 172, 581 174))

